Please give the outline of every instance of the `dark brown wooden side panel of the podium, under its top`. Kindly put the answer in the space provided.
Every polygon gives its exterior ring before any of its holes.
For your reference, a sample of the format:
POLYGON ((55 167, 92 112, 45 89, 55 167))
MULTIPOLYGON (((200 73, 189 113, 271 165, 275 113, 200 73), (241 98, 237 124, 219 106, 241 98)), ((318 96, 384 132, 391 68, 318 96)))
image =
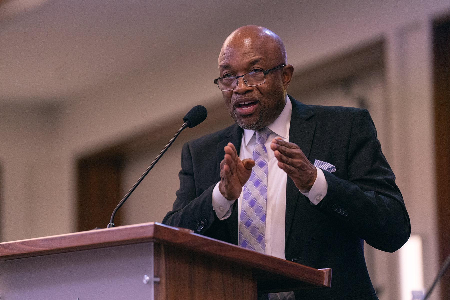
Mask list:
MULTIPOLYGON (((158 247, 162 251, 155 251, 155 261, 164 260, 165 269, 155 296, 166 295, 159 299, 257 300, 257 278, 251 267, 173 246, 158 247), (159 253, 162 256, 157 257, 159 253)), ((155 268, 157 273, 162 272, 155 268)))

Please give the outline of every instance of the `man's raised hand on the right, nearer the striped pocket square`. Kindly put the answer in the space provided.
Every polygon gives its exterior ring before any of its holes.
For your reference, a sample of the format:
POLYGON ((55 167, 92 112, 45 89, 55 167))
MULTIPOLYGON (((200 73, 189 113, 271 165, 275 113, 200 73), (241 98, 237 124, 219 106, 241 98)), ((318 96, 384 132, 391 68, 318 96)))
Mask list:
POLYGON ((279 137, 272 140, 270 148, 278 159, 278 166, 291 177, 295 186, 302 192, 309 192, 317 178, 317 170, 302 149, 279 137))

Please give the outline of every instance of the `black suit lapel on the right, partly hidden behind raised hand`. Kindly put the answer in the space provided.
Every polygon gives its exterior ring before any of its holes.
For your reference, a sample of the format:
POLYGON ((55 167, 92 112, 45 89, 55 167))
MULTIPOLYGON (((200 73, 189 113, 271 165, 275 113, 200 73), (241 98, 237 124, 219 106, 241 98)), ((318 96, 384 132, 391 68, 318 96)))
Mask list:
MULTIPOLYGON (((306 121, 313 116, 311 109, 303 103, 300 103, 289 96, 292 102, 291 125, 289 126, 289 142, 297 144, 302 149, 305 156, 308 157, 311 151, 312 140, 314 137, 315 123, 306 121)), ((286 184, 286 220, 284 244, 288 241, 294 212, 297 207, 297 201, 303 196, 295 186, 292 179, 288 177, 286 184)))

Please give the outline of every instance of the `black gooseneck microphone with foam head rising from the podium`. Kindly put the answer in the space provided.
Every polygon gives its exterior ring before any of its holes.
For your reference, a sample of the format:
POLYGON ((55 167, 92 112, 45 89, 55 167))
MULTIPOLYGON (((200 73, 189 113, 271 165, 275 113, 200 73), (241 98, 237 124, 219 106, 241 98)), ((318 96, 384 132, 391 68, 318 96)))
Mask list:
POLYGON ((135 185, 126 193, 125 197, 117 204, 116 208, 112 212, 111 219, 109 220, 109 224, 106 228, 114 227, 114 216, 116 215, 117 210, 125 203, 126 199, 130 197, 131 193, 137 188, 137 186, 141 183, 141 181, 147 176, 148 172, 152 170, 153 166, 159 161, 159 159, 162 157, 164 153, 166 153, 167 149, 171 146, 171 144, 175 141, 177 136, 183 131, 186 127, 192 128, 194 126, 197 126, 198 124, 205 121, 206 117, 208 115, 208 111, 206 108, 202 105, 197 105, 192 107, 192 109, 184 116, 183 121, 184 124, 181 126, 180 130, 174 135, 174 137, 170 140, 170 142, 162 149, 161 153, 158 154, 158 156, 155 158, 155 160, 152 162, 150 166, 148 166, 147 170, 142 174, 142 176, 139 178, 138 181, 136 181, 135 185))

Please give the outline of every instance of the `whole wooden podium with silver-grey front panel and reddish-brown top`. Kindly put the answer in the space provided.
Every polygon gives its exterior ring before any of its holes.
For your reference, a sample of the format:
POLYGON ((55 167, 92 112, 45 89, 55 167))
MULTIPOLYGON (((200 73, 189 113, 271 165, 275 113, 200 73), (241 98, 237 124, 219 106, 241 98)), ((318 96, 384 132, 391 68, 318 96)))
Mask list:
POLYGON ((1 300, 256 300, 330 285, 331 269, 153 222, 0 243, 1 300))

